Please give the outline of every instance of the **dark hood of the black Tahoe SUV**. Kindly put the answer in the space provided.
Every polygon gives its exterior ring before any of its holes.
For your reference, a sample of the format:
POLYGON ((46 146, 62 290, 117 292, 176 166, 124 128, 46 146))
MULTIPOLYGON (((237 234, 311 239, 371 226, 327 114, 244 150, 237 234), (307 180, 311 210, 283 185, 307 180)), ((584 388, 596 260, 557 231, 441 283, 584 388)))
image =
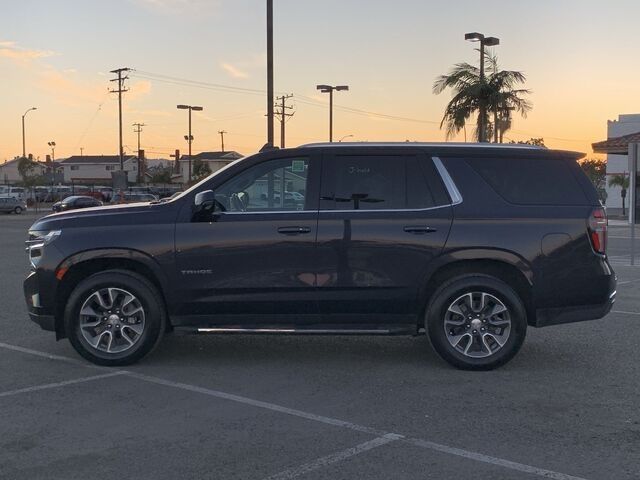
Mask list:
POLYGON ((62 230, 109 225, 144 225, 175 221, 181 203, 129 203, 54 213, 38 219, 30 230, 62 230))

